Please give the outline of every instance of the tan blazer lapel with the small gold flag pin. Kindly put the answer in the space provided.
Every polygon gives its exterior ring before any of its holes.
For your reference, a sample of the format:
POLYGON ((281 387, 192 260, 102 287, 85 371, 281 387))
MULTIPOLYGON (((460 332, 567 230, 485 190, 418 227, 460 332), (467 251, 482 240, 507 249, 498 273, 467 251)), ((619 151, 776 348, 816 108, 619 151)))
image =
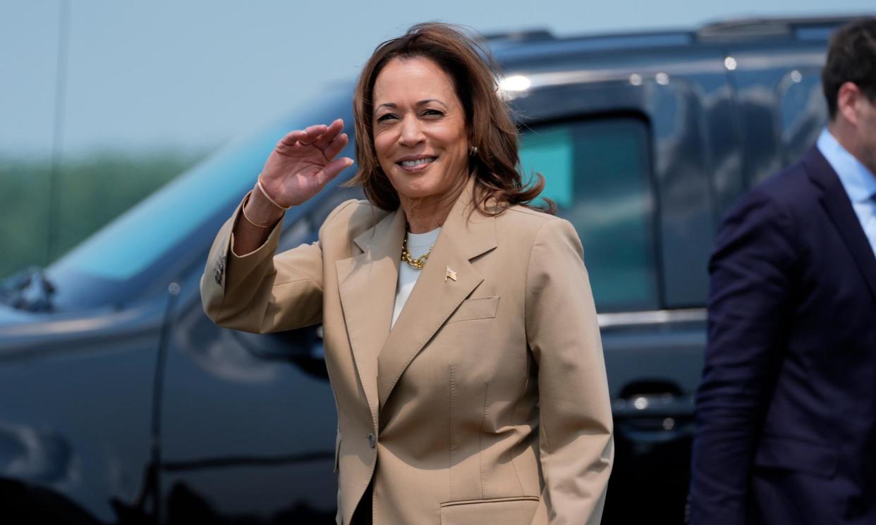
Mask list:
MULTIPOLYGON (((495 219, 469 215, 470 183, 456 200, 378 356, 378 395, 383 407, 401 374, 456 307, 484 281, 470 260, 496 247, 495 219), (448 276, 455 272, 456 280, 448 276)), ((399 242, 400 239, 399 239, 399 242)), ((395 286, 392 286, 393 293, 395 286)))

